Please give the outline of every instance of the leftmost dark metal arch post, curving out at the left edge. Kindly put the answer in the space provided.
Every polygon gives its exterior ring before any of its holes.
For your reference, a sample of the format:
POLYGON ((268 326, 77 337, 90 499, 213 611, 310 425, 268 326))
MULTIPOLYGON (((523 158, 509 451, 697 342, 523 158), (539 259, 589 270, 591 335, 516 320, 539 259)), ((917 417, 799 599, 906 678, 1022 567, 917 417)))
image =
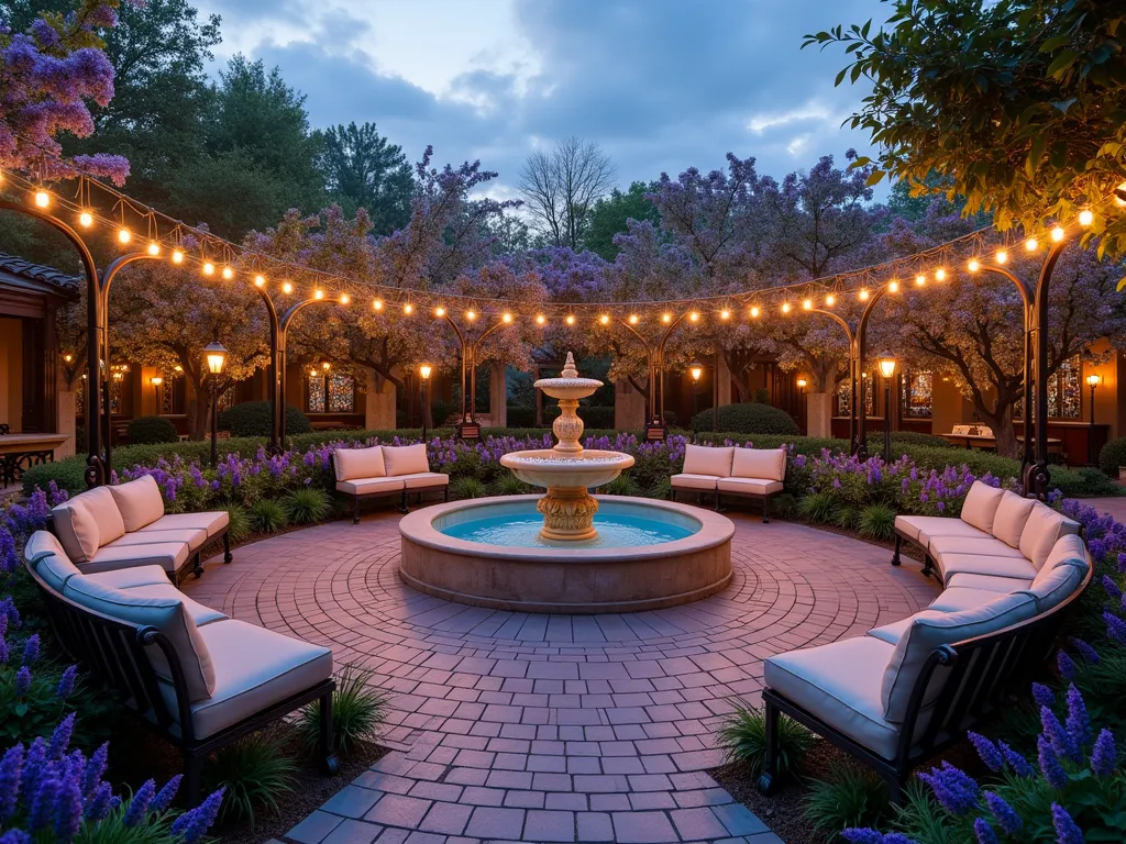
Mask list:
POLYGON ((0 209, 23 214, 46 223, 57 230, 71 242, 78 251, 79 260, 86 272, 87 290, 87 323, 86 323, 86 485, 88 487, 101 486, 109 481, 107 463, 109 458, 108 446, 104 449, 104 437, 101 430, 101 414, 98 412, 98 397, 101 395, 102 371, 99 365, 99 332, 102 330, 101 297, 99 294, 98 267, 93 255, 90 253, 86 242, 66 223, 52 214, 41 212, 36 208, 27 208, 18 203, 8 199, 0 199, 0 209))

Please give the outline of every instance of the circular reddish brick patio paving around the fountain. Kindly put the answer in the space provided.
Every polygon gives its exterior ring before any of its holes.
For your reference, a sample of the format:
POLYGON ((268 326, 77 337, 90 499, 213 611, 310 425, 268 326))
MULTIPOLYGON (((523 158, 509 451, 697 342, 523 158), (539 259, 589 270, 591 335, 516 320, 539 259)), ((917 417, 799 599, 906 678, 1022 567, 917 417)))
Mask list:
POLYGON ((390 694, 396 748, 291 830, 303 844, 777 841, 703 773, 732 698, 771 654, 864 634, 937 586, 890 551, 734 514, 724 592, 653 612, 503 612, 399 578, 397 515, 333 522, 212 560, 185 591, 331 646, 390 694), (465 836, 465 837, 461 837, 465 836))

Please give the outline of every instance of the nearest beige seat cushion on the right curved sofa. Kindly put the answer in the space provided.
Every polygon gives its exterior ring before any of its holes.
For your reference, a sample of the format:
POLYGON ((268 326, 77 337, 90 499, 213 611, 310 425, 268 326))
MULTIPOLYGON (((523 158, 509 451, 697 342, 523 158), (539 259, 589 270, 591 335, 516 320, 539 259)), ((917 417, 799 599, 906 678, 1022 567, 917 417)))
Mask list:
MULTIPOLYGON (((899 727, 883 716, 879 681, 894 646, 872 636, 771 656, 766 684, 883 758, 893 758, 899 727)), ((926 720, 920 719, 921 726, 926 720)))

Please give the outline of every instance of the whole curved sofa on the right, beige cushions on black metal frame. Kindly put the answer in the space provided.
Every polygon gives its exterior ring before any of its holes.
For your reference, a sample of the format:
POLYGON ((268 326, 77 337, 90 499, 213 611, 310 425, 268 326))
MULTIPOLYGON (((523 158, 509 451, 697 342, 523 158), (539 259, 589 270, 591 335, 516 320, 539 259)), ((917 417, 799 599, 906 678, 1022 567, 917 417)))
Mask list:
POLYGON ((766 661, 767 763, 785 713, 874 767, 897 800, 912 769, 958 740, 1052 654, 1066 608, 1091 581, 1079 523, 974 483, 960 519, 899 517, 946 586, 914 616, 865 636, 766 661))

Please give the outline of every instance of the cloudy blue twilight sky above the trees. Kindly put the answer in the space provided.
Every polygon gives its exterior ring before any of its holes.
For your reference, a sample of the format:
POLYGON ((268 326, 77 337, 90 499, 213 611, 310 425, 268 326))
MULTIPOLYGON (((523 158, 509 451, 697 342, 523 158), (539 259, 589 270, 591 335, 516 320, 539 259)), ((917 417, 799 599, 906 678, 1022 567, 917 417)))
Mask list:
POLYGON ((410 161, 480 158, 507 196, 525 158, 595 141, 623 186, 754 155, 780 178, 838 162, 865 95, 833 89, 840 50, 802 36, 888 14, 877 0, 198 0, 220 62, 279 65, 314 126, 374 120, 410 161))

